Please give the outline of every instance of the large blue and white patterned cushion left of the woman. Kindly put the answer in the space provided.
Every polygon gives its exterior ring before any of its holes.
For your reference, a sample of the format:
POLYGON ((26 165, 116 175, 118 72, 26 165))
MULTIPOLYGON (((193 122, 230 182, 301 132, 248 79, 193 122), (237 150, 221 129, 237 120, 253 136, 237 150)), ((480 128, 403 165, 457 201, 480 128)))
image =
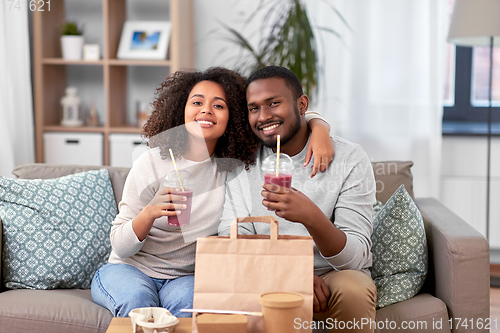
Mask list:
POLYGON ((0 177, 5 286, 90 288, 111 251, 116 214, 105 169, 46 180, 0 177))

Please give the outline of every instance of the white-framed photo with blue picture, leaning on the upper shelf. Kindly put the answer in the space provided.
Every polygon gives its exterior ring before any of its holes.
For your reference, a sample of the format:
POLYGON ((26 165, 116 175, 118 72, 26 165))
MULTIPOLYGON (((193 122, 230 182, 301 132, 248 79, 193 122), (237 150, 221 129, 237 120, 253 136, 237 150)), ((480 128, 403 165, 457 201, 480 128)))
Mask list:
POLYGON ((172 24, 168 21, 126 21, 118 59, 163 60, 167 57, 172 24))

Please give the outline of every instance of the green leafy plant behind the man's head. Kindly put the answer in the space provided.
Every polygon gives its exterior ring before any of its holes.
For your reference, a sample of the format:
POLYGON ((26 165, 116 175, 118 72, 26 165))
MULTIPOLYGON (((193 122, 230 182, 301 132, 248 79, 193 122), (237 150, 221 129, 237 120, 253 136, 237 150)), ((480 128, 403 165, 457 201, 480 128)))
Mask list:
MULTIPOLYGON (((344 17, 327 0, 323 0, 343 24, 349 29, 344 17)), ((251 73, 268 65, 283 66, 293 71, 302 82, 304 92, 311 96, 317 91, 320 65, 317 55, 317 40, 313 32, 319 29, 337 37, 340 34, 330 28, 311 25, 303 1, 301 0, 261 0, 258 9, 252 13, 247 23, 259 11, 264 11, 261 35, 264 36, 255 47, 238 31, 221 23, 230 33, 230 42, 237 44, 247 54, 238 57, 238 69, 251 73), (314 29, 313 29, 314 28, 314 29)))

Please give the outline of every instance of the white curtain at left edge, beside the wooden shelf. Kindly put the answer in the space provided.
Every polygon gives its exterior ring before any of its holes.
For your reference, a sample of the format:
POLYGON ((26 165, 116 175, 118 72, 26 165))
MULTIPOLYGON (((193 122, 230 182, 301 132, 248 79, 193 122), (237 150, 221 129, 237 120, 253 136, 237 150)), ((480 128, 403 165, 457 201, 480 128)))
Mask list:
POLYGON ((0 3, 0 176, 35 160, 28 6, 0 3))

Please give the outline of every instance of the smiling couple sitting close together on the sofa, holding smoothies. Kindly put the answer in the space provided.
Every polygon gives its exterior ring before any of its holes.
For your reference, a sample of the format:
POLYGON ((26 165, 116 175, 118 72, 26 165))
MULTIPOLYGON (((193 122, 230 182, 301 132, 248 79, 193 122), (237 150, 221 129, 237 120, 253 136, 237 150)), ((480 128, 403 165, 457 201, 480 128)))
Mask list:
MULTIPOLYGON (((234 214, 265 215, 270 208, 276 210, 282 232, 313 236, 315 313, 337 320, 374 319, 376 292, 366 272, 375 201, 370 162, 358 146, 331 139, 321 121, 309 122, 311 133, 304 116, 307 107, 299 80, 281 67, 258 70, 248 81, 222 68, 167 78, 144 127, 152 149, 136 160, 125 183, 111 230, 109 263, 92 282, 94 301, 115 316, 144 306, 181 315, 180 309, 192 305, 196 237, 215 234, 217 227, 227 234, 234 214), (172 129, 174 134, 165 132, 172 129), (308 165, 314 154, 311 175, 303 167, 294 172, 293 185, 303 184, 302 192, 260 188, 260 164, 273 153, 267 146, 276 146, 278 134, 282 152, 295 163, 302 166, 305 160, 308 165), (325 144, 335 147, 328 167, 325 144), (182 229, 165 218, 185 208, 172 203, 182 196, 161 186, 173 170, 170 148, 177 167, 194 175, 198 191, 191 223, 182 229), (318 156, 318 150, 326 153, 318 156), (244 166, 238 167, 237 161, 244 166), (311 180, 320 167, 326 172, 311 180), (241 186, 239 175, 251 180, 250 189, 241 186), (231 180, 225 184, 226 176, 231 180), (315 183, 326 183, 326 190, 315 191, 315 183)), ((257 225, 243 232, 266 233, 257 225)))

